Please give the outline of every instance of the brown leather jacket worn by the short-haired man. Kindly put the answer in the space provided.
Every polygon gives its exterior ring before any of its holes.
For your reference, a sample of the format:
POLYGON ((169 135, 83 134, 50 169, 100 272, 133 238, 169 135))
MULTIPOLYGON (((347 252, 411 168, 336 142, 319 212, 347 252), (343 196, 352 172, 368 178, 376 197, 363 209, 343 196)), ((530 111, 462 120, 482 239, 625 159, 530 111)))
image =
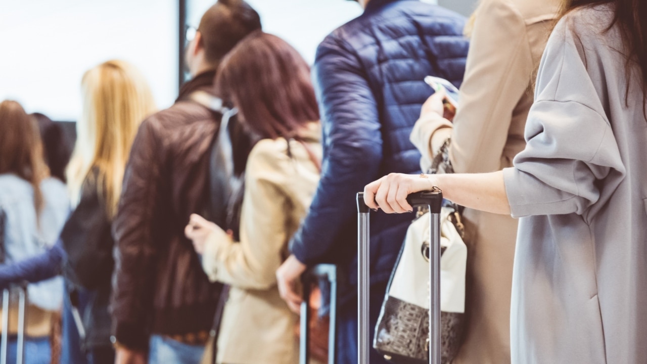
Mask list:
POLYGON ((182 87, 173 106, 144 120, 124 175, 116 241, 113 334, 129 348, 149 336, 208 332, 221 284, 210 283, 184 227, 206 209, 208 158, 220 119, 186 100, 215 73, 182 87))

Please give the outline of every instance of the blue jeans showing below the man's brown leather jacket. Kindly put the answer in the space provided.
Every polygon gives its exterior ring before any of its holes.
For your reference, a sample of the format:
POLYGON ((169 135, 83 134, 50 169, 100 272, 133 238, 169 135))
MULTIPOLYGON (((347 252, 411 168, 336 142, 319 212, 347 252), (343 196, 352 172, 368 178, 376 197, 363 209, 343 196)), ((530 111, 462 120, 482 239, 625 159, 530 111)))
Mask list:
POLYGON ((204 345, 188 345, 166 336, 151 336, 148 364, 199 364, 204 345))

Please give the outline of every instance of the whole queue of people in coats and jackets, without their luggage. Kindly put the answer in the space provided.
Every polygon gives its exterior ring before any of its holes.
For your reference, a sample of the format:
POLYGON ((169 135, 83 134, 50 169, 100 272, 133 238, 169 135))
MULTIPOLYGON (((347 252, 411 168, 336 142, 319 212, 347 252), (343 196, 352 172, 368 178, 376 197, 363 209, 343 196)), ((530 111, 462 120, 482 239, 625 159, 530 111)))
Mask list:
MULTIPOLYGON (((300 278, 320 263, 342 280, 334 359, 356 363, 355 194, 375 209, 375 326, 406 196, 432 187, 465 207, 452 363, 647 360, 647 5, 358 3, 311 70, 218 0, 161 111, 129 63, 90 69, 71 159, 44 115, 0 103, 0 287, 30 282, 27 363, 298 363, 300 278), (460 87, 455 114, 425 76, 460 87), (426 174, 439 155, 454 174, 426 174)), ((16 315, 12 298, 8 362, 16 315)))

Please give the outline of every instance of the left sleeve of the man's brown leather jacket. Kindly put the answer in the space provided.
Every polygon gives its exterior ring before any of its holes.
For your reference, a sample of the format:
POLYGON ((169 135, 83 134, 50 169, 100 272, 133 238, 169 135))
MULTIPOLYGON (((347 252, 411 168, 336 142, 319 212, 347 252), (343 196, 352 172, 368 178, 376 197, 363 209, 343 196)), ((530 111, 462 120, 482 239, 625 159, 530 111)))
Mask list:
POLYGON ((133 142, 113 222, 113 334, 120 345, 141 350, 148 348, 153 311, 157 253, 153 229, 164 159, 159 133, 149 121, 144 120, 133 142))

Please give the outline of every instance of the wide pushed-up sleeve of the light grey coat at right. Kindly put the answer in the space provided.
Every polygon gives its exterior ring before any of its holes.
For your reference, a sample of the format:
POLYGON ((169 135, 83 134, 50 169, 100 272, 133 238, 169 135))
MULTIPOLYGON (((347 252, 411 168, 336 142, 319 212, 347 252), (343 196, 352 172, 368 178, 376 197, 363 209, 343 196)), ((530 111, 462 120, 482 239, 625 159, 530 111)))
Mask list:
POLYGON ((600 181, 626 173, 579 41, 562 19, 543 54, 527 146, 503 170, 512 216, 585 215, 600 181))

